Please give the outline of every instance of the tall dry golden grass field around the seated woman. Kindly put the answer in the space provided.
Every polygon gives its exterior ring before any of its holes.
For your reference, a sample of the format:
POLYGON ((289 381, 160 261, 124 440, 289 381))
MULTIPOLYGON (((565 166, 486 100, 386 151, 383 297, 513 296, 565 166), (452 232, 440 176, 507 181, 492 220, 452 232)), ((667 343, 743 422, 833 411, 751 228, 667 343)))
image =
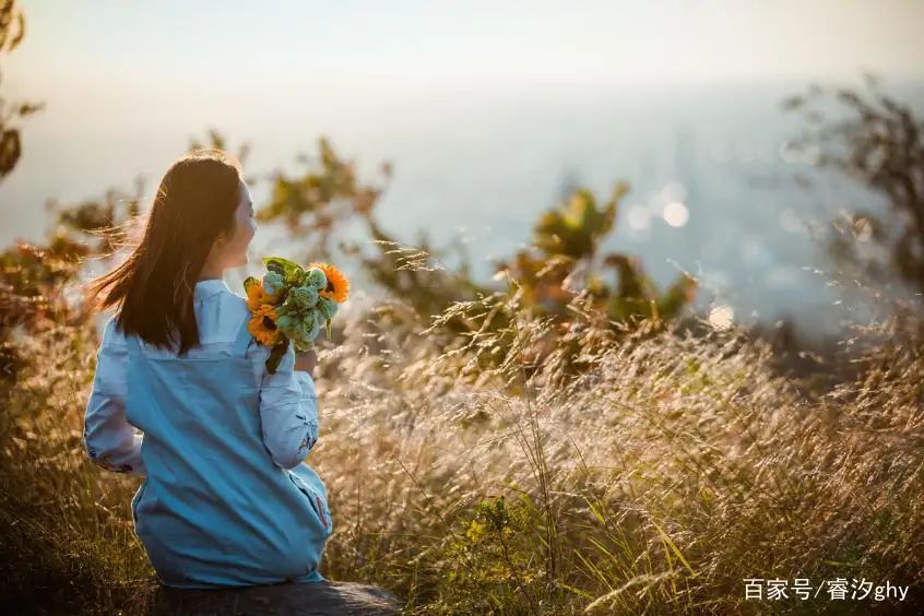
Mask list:
MULTIPOLYGON (((449 337, 398 303, 344 318, 308 459, 334 517, 325 576, 388 587, 408 614, 872 606, 824 591, 746 602, 754 577, 888 580, 913 587, 893 607, 924 605, 920 342, 872 350, 857 379, 808 399, 735 330, 616 342, 582 318, 524 366, 549 327, 518 316, 449 337)), ((96 342, 67 327, 23 341, 33 359, 4 389, 3 607, 132 614, 156 595, 131 530, 137 481, 81 446, 96 342)))

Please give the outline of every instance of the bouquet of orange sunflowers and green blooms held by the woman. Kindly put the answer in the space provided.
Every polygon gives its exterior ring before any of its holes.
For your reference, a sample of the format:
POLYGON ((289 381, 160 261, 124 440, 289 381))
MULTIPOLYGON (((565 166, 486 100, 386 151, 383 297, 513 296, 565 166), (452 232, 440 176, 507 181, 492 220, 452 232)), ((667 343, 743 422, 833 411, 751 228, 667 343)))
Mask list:
POLYGON ((244 281, 251 318, 248 329, 261 344, 271 346, 266 369, 274 374, 292 342, 296 351, 313 347, 321 331, 331 335, 331 318, 350 294, 350 281, 328 263, 298 263, 264 257, 263 280, 244 281))

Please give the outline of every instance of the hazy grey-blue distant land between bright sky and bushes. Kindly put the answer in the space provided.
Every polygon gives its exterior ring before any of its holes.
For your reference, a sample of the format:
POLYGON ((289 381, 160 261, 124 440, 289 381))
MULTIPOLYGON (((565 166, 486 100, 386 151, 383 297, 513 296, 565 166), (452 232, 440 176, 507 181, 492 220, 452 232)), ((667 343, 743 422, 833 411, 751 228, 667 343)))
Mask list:
MULTIPOLYGON (((393 164, 394 180, 377 206, 387 229, 412 242, 423 228, 437 246, 462 240, 478 276, 486 275, 489 261, 509 257, 529 238, 536 216, 555 204, 566 182, 605 199, 615 181, 627 180, 630 191, 612 249, 640 257, 659 284, 667 284, 679 268, 690 270, 702 279, 697 303, 732 308, 738 322, 772 323, 789 313, 821 335, 838 322, 828 319, 834 297, 824 279, 806 271, 828 265, 821 247, 799 233, 797 217, 833 215, 819 208, 836 213, 844 200, 864 206, 880 200, 846 178, 820 185, 815 194, 786 181, 812 170, 781 150, 802 121, 780 102, 805 85, 667 87, 663 96, 650 96, 651 91, 602 96, 581 88, 460 99, 442 93, 407 108, 383 97, 360 98, 353 109, 337 107, 331 97, 308 109, 285 99, 271 112, 226 107, 218 119, 208 104, 170 110, 144 100, 152 116, 134 109, 105 127, 72 122, 66 102, 25 127, 22 162, 0 185, 0 215, 14 222, 0 229, 0 239, 40 241, 40 229, 51 222, 43 209, 47 198, 69 205, 102 198, 110 187, 131 192, 139 176, 145 179, 146 208, 188 138, 204 139, 209 127, 223 132, 232 153, 246 140, 252 150, 245 173, 260 178, 274 170, 298 173, 296 156, 313 155, 317 138, 325 135, 341 156, 356 162, 360 181, 375 181, 379 163, 393 164), (171 118, 177 112, 183 121, 171 118), (751 180, 779 186, 767 189, 751 180), (685 188, 677 192, 677 185, 685 188), (679 197, 686 201, 679 226, 665 215, 675 193, 686 193, 679 197)), ((889 85, 886 91, 900 88, 889 85)), ((908 92, 913 96, 901 100, 924 109, 924 87, 908 92)), ((251 187, 258 205, 269 188, 266 181, 251 187)), ((261 228, 254 249, 277 235, 282 229, 261 228)))

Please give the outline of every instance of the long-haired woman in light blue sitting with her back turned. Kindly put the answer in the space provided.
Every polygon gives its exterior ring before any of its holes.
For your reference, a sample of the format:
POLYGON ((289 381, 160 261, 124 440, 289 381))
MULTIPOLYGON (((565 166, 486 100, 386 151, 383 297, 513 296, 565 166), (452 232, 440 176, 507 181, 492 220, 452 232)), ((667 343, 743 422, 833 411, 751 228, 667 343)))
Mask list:
POLYGON ((135 533, 168 587, 325 580, 327 488, 303 462, 318 439, 317 358, 289 345, 270 375, 247 303, 223 281, 253 234, 239 164, 198 151, 167 170, 140 245, 86 286, 118 311, 84 443, 99 466, 145 477, 135 533))

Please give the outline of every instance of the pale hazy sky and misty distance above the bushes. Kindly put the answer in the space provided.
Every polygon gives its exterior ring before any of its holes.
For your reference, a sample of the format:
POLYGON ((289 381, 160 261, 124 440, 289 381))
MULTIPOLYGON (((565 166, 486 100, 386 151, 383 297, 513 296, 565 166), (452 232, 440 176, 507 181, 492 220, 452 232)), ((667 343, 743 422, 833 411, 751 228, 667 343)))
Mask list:
MULTIPOLYGON (((2 92, 44 108, 20 122, 21 157, 0 183, 3 245, 42 240, 48 200, 137 192, 138 179, 150 200, 208 129, 233 152, 249 144, 264 203, 273 175, 324 135, 357 176, 391 165, 382 228, 460 245, 477 280, 571 189, 605 198, 625 180, 601 249, 638 257, 660 285, 694 276, 694 306, 718 322, 785 318, 818 337, 876 316, 832 282, 851 279, 832 259, 832 222, 872 244, 855 213, 893 220, 888 196, 820 165, 817 144, 797 147, 812 122, 785 102, 813 85, 862 93, 872 76, 920 112, 920 2, 20 8, 28 32, 2 60, 2 92)), ((836 98, 818 105, 848 117, 836 98)), ((266 223, 254 256, 291 254, 266 223)))

